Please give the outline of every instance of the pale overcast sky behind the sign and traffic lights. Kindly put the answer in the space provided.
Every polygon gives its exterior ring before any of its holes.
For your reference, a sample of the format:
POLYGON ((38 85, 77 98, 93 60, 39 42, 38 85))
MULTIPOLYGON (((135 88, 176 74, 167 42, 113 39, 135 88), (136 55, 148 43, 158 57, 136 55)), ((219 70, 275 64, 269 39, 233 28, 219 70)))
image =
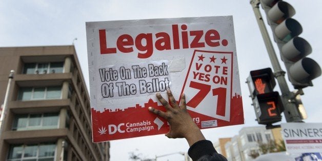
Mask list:
MULTIPOLYGON (((322 66, 322 1, 288 1, 296 10, 295 19, 303 26, 305 38, 312 46, 313 58, 322 66)), ((271 67, 252 7, 245 1, 1 1, 0 47, 71 45, 73 39, 78 59, 88 85, 88 63, 85 22, 123 19, 149 19, 169 17, 198 17, 233 15, 235 39, 242 87, 245 125, 203 130, 206 138, 216 141, 232 137, 242 127, 258 126, 246 81, 251 70, 271 67)), ((274 44, 274 43, 273 43, 274 44)), ((274 44, 275 45, 275 44, 274 44)), ((276 53, 279 53, 275 46, 276 53)), ((278 56, 279 57, 279 56, 278 56)), ((284 68, 284 64, 281 64, 284 68)), ((287 79, 287 78, 286 78, 287 79)), ((304 89, 301 96, 308 113, 305 122, 321 122, 322 77, 313 81, 314 87, 304 89)), ((289 86, 291 90, 293 87, 289 86)), ((278 90, 278 87, 275 87, 278 90)), ((285 118, 283 118, 285 122, 285 118)), ((184 139, 168 139, 164 135, 146 136, 111 141, 111 160, 128 160, 129 152, 142 153, 154 158, 174 152, 186 152, 189 146, 184 139)), ((184 160, 179 154, 158 160, 184 160)))

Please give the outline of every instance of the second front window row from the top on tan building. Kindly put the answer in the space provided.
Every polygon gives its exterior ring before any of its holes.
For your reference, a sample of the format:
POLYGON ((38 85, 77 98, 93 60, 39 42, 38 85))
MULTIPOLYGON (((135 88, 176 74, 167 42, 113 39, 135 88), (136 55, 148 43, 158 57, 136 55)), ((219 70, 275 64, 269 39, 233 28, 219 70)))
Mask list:
POLYGON ((60 99, 61 86, 23 87, 19 89, 18 100, 60 99))

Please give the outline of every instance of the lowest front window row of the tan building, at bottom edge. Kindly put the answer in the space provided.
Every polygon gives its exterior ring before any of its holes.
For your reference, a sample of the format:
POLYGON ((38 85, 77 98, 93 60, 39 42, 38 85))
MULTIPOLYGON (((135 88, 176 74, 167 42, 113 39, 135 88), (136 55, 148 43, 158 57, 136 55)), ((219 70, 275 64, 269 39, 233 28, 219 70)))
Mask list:
POLYGON ((30 160, 48 161, 55 158, 55 144, 11 145, 8 161, 30 160))

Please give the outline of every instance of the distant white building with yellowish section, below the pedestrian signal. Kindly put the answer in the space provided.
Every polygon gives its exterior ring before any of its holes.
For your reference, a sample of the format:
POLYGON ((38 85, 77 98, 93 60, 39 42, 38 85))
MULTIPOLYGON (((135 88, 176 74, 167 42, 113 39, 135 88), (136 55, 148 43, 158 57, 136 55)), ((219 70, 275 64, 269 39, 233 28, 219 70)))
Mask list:
POLYGON ((266 130, 264 126, 258 127, 244 127, 239 131, 238 135, 231 138, 229 142, 225 143, 224 149, 228 160, 243 161, 253 160, 250 156, 255 152, 260 155, 258 143, 275 142, 280 144, 283 141, 281 137, 280 128, 266 130))

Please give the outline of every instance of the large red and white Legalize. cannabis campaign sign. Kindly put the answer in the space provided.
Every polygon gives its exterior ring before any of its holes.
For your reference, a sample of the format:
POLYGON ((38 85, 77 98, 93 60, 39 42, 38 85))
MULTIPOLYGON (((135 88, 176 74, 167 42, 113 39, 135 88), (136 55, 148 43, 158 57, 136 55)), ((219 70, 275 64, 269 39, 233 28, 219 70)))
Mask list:
POLYGON ((232 16, 86 23, 93 142, 164 134, 170 88, 200 129, 244 123, 232 16))

